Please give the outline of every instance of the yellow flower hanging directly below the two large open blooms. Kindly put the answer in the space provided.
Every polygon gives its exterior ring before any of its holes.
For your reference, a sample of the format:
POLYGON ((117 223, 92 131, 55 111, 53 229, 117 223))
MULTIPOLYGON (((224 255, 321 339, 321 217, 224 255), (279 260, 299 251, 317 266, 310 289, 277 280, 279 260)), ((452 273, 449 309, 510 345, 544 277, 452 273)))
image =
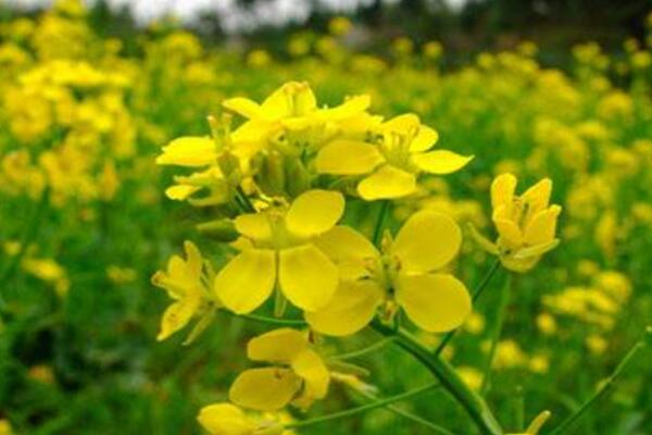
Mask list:
POLYGON ((274 330, 247 345, 252 361, 275 365, 242 372, 229 390, 229 399, 243 408, 276 411, 286 405, 308 409, 328 393, 330 374, 308 335, 297 330, 274 330))

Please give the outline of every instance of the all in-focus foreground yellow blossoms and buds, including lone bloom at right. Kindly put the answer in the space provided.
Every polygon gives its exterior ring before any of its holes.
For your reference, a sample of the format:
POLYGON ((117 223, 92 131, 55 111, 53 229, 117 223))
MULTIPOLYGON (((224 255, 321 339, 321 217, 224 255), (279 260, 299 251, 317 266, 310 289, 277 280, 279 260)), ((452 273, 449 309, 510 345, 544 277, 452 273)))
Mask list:
MULTIPOLYGON (((189 343, 216 311, 301 323, 292 314, 299 310, 308 326, 249 341, 249 359, 265 365, 237 376, 233 405, 202 410, 199 420, 214 434, 277 433, 284 426, 276 418, 249 420, 240 408, 306 410, 326 397, 331 381, 351 385, 355 371, 331 364, 321 336, 351 336, 371 324, 401 327, 405 320, 446 333, 472 312, 469 291, 453 274, 463 239, 454 219, 424 209, 403 213, 396 234, 386 227, 397 201, 422 195, 428 176, 454 173, 472 158, 431 150, 438 134, 416 115, 384 121, 369 104, 368 96, 354 96, 319 105, 306 83, 290 82, 262 103, 225 100, 226 112, 209 117, 210 136, 174 139, 156 159, 195 171, 175 176, 166 196, 209 208, 213 219, 198 228, 233 252, 213 264, 187 241, 187 260, 173 257, 153 276, 174 299, 159 339, 198 318, 189 343), (242 117, 235 127, 234 115, 242 117), (375 212, 373 234, 353 204, 375 212)), ((524 271, 556 245, 560 208, 548 206, 550 181, 522 197, 515 184, 509 174, 493 182, 500 237, 490 246, 506 268, 524 271)))

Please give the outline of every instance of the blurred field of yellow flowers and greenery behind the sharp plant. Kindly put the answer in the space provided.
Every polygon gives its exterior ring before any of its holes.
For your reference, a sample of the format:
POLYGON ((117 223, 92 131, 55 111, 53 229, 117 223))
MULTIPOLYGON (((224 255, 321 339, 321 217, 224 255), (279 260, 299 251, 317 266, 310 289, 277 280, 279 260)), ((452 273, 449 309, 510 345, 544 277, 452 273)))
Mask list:
MULTIPOLYGON (((488 400, 548 433, 637 343, 652 313, 652 5, 649 0, 0 0, 0 435, 199 434, 266 331, 227 314, 191 346, 155 340, 170 299, 151 275, 193 240, 210 208, 164 192, 154 164, 179 136, 206 135, 221 101, 261 101, 288 80, 319 103, 368 94, 373 113, 417 113, 473 164, 399 204, 471 222, 489 237, 489 185, 554 181, 561 246, 514 283, 488 400)), ((241 122, 238 120, 237 122, 241 122)), ((358 219, 369 229, 369 216, 358 219)), ((456 273, 492 261, 466 237, 456 273)), ((501 278, 447 351, 481 381, 501 278)), ((422 337, 435 346, 439 337, 422 337)), ((373 344, 361 334, 329 352, 373 344)), ((392 348, 356 359, 379 394, 430 381, 392 348)), ((652 434, 650 353, 574 433, 652 434)), ((334 387, 311 415, 364 403, 334 387)), ((443 391, 401 405, 473 434, 443 391)), ((300 414, 296 414, 301 417, 300 414)), ((426 434, 386 410, 301 434, 426 434)))

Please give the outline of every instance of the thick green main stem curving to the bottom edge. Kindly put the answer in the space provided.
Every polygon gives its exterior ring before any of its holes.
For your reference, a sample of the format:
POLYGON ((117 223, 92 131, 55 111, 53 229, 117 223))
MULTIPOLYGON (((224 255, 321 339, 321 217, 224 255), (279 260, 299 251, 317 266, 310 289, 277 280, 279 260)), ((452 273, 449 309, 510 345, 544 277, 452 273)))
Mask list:
POLYGON ((446 360, 434 356, 429 349, 404 330, 394 330, 375 321, 372 326, 385 336, 396 335, 396 344, 424 364, 441 385, 460 402, 476 426, 490 435, 502 435, 503 431, 485 400, 462 381, 455 369, 446 360))

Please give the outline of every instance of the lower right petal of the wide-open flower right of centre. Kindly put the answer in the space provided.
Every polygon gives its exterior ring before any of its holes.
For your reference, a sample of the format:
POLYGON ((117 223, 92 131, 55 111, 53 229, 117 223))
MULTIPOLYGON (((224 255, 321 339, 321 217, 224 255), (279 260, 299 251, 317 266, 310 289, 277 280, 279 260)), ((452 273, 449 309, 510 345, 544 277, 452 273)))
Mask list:
POLYGON ((471 313, 464 284, 443 273, 399 275, 397 302, 414 324, 431 333, 453 330, 471 313))

